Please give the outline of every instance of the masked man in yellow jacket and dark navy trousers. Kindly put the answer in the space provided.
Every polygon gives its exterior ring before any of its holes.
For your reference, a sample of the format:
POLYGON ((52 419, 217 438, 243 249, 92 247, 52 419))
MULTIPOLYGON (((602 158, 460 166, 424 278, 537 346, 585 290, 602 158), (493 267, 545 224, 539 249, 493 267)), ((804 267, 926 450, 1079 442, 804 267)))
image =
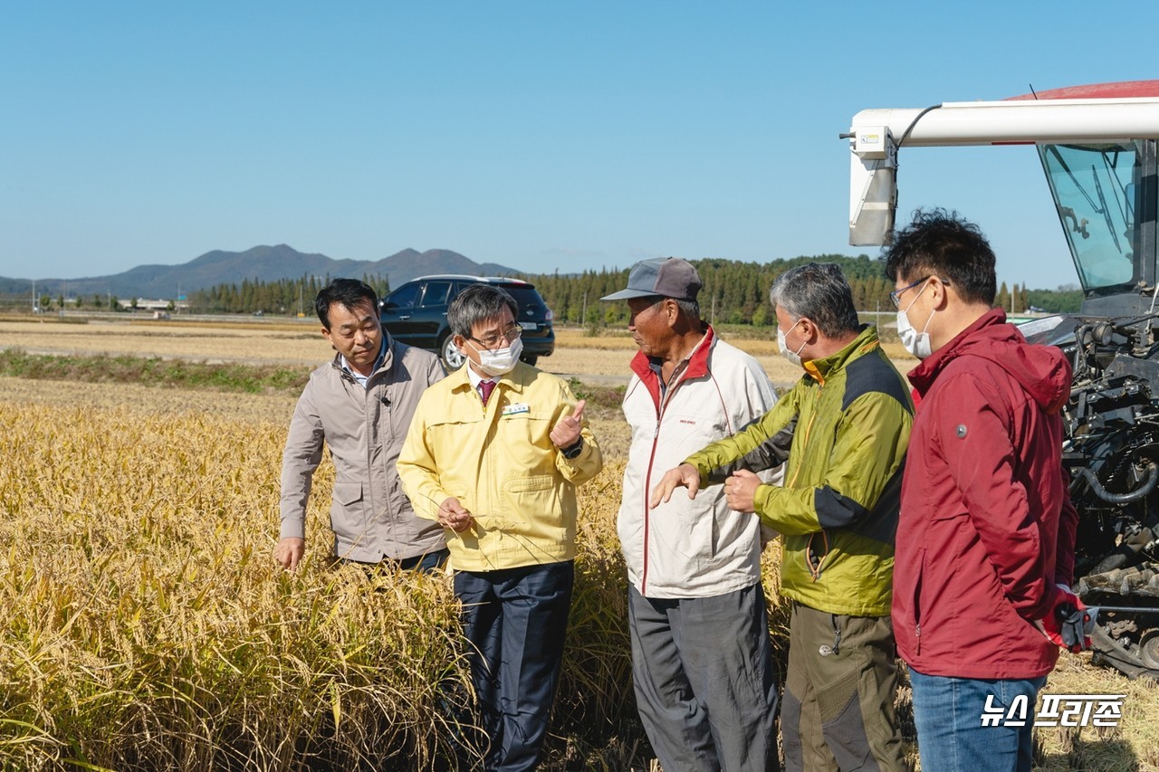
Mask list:
POLYGON ((488 284, 454 299, 468 362, 423 394, 398 464, 415 514, 447 529, 484 769, 504 772, 539 763, 571 606, 575 486, 603 466, 583 401, 519 362, 517 312, 488 284))

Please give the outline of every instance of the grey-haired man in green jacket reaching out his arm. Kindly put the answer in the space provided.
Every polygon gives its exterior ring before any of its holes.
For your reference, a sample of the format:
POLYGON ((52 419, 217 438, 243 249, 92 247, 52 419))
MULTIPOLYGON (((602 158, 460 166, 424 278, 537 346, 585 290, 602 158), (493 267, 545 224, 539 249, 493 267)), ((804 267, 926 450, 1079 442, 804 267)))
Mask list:
POLYGON ((786 766, 901 770, 889 614, 913 403, 837 265, 794 268, 770 298, 781 354, 804 376, 763 417, 669 469, 651 504, 724 481, 730 509, 782 534, 781 595, 793 603, 786 766), (764 485, 748 469, 772 463, 773 439, 794 421, 785 485, 764 485))

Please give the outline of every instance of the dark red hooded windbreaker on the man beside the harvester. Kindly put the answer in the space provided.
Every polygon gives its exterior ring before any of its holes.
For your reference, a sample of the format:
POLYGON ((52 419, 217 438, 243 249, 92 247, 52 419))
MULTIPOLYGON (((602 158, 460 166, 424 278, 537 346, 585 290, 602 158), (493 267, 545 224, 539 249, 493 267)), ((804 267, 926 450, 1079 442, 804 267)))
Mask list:
POLYGON ((1035 678, 1058 658, 1032 621, 1074 568, 1058 415, 1071 366, 1005 322, 989 312, 910 372, 921 401, 892 618, 898 653, 927 676, 1035 678))

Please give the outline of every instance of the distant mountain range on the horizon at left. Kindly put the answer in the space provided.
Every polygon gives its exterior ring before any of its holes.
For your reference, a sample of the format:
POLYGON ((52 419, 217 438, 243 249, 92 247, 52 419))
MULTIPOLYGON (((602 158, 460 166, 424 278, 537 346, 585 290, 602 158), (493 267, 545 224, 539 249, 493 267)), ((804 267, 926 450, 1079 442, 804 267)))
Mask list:
MULTIPOLYGON (((241 284, 243 279, 274 282, 300 276, 386 276, 392 287, 427 274, 468 274, 472 276, 511 276, 513 268, 497 263, 476 263, 450 249, 417 252, 403 249, 382 260, 333 260, 326 255, 298 252, 279 243, 254 247, 246 252, 216 249, 181 265, 138 265, 123 274, 89 278, 36 279, 36 293, 56 298, 112 293, 118 298, 173 299, 218 284, 241 284)), ((0 294, 30 294, 29 279, 0 277, 0 294)))

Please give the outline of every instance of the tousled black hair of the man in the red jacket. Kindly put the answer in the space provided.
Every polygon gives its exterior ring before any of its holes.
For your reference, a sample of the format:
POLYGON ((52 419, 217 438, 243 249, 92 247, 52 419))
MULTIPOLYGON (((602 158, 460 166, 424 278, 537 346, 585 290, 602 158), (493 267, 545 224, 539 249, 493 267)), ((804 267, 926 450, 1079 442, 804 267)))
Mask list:
POLYGON ((994 305, 994 250, 982 230, 957 212, 914 210, 913 220, 882 250, 881 260, 892 282, 936 276, 967 303, 994 305))

